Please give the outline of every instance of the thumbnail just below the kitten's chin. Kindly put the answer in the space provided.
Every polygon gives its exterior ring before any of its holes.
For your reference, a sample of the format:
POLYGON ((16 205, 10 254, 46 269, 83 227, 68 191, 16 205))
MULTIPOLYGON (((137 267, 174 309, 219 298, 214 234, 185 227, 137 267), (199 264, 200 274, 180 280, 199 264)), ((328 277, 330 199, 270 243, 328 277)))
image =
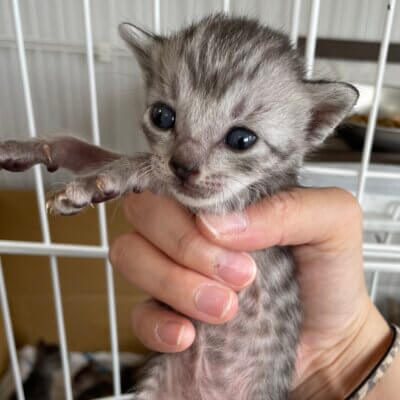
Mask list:
POLYGON ((226 235, 240 233, 247 229, 247 215, 243 213, 232 213, 228 215, 200 214, 203 224, 214 235, 226 235))

